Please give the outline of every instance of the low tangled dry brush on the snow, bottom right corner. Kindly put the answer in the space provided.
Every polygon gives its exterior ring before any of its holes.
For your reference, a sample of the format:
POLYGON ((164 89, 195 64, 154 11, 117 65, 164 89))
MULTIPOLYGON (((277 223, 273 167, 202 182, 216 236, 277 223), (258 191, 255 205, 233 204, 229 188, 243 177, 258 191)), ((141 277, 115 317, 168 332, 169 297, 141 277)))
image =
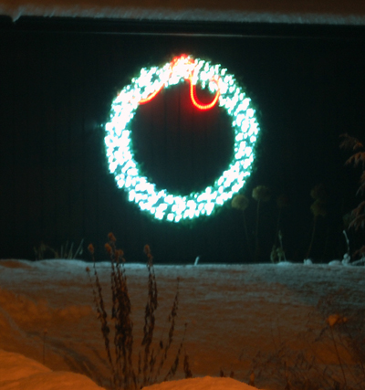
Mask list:
POLYGON ((254 377, 283 390, 364 390, 365 310, 349 308, 344 291, 318 301, 321 328, 308 326, 299 337, 306 350, 279 343, 272 353, 257 353, 250 368, 254 377), (320 352, 320 353, 318 353, 320 352), (320 356, 334 356, 328 364, 320 356))

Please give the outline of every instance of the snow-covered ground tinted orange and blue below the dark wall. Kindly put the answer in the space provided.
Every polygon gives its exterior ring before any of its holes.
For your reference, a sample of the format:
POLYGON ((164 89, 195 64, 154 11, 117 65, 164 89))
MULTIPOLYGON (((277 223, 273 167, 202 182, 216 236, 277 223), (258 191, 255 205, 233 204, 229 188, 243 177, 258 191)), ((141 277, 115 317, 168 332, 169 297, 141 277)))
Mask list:
MULTIPOLYGON (((87 266, 91 264, 80 260, 0 260, 0 388, 97 389, 108 385, 110 372, 87 266)), ((98 263, 97 268, 105 301, 110 302, 110 263, 98 263)), ((127 264, 126 272, 138 353, 148 273, 139 264, 127 264)), ((320 297, 343 289, 348 292, 343 295, 348 306, 363 307, 365 301, 365 267, 155 266, 155 273, 159 293, 156 342, 167 337, 167 318, 180 278, 172 354, 186 322, 184 348, 194 378, 155 385, 153 390, 247 390, 250 387, 238 380, 248 382, 250 364, 258 351, 273 351, 280 341, 300 350, 305 341, 297 335, 309 319, 319 327, 326 325, 316 309, 320 297), (221 370, 225 374, 233 371, 237 380, 219 378, 221 370)), ((182 369, 174 379, 183 379, 182 369)), ((255 385, 270 388, 267 381, 255 385)))

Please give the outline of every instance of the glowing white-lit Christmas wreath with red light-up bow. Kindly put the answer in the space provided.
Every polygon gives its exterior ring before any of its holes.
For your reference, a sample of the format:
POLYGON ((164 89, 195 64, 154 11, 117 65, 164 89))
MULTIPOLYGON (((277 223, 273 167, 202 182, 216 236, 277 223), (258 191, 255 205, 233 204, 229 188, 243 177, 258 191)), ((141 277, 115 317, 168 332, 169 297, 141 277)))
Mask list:
POLYGON ((197 216, 210 216, 217 206, 231 199, 245 184, 254 162, 254 146, 259 132, 255 110, 235 77, 220 65, 211 65, 200 58, 180 56, 162 68, 141 69, 138 78, 124 87, 113 100, 110 121, 105 125, 105 146, 110 173, 118 187, 125 188, 129 200, 157 219, 179 222, 197 216), (190 97, 199 110, 209 110, 218 104, 232 118, 235 135, 234 158, 227 169, 202 192, 172 195, 157 189, 141 174, 131 148, 130 122, 140 104, 153 99, 162 88, 180 82, 190 83, 190 97), (208 88, 214 98, 209 104, 198 101, 195 86, 208 88))

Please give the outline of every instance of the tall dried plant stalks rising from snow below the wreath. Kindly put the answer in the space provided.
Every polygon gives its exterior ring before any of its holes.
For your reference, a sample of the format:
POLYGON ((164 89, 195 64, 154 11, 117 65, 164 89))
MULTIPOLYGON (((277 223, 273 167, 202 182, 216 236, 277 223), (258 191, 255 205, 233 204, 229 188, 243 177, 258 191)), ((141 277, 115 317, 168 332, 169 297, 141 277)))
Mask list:
MULTIPOLYGON (((105 244, 105 248, 110 255, 110 320, 96 267, 94 248, 91 244, 89 245, 89 252, 93 260, 93 277, 91 276, 89 268, 87 271, 92 287, 94 304, 98 313, 101 334, 110 364, 110 387, 113 390, 137 390, 141 389, 143 386, 157 383, 160 380, 166 381, 172 379, 176 374, 183 353, 183 342, 186 332, 185 324, 183 339, 173 358, 173 362, 170 367, 165 368, 173 342, 179 306, 179 279, 177 281, 176 294, 172 302, 172 310, 168 317, 170 329, 167 341, 163 343, 161 339, 156 346, 155 343, 153 343, 153 340, 156 321, 155 311, 158 308, 158 290, 151 248, 148 245, 144 247, 148 269, 148 296, 144 311, 143 337, 138 359, 135 359, 133 355, 134 333, 133 321, 131 319, 132 306, 128 291, 126 269, 124 266, 124 253, 121 249, 116 247, 116 238, 112 233, 109 234, 109 241, 105 244), (114 337, 111 336, 110 321, 114 322, 114 337), (136 361, 138 361, 137 364, 136 361), (162 372, 165 372, 165 374, 162 375, 162 372)), ((185 377, 193 376, 189 366, 189 358, 186 353, 184 353, 183 371, 185 377)))

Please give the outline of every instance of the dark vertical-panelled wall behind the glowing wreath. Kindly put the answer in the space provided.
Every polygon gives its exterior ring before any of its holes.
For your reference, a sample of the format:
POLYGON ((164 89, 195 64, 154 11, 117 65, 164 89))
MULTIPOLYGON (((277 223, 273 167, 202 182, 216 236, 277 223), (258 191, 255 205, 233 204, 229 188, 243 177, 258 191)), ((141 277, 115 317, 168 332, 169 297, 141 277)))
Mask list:
MULTIPOLYGON (((108 172, 102 125, 112 99, 139 69, 181 53, 221 63, 245 85, 259 112, 261 142, 243 193, 251 198, 258 184, 272 190, 261 209, 261 260, 268 261, 275 240, 281 194, 290 201, 280 226, 287 257, 305 256, 309 193, 318 183, 328 189, 328 216, 318 223, 313 256, 343 255, 342 216, 359 202, 359 172, 343 166, 349 154, 339 151, 339 134, 365 142, 362 29, 331 27, 322 34, 308 26, 297 35, 295 26, 284 32, 256 28, 240 36, 235 26, 233 36, 227 30, 214 36, 212 26, 207 35, 201 34, 204 26, 200 34, 140 34, 136 26, 120 32, 115 24, 108 31, 97 22, 85 30, 69 23, 72 28, 67 22, 57 28, 49 19, 47 28, 44 21, 6 21, 0 31, 0 258, 34 258, 41 241, 60 248, 81 238, 105 258, 103 244, 113 231, 130 261, 143 261, 145 243, 156 262, 193 262, 198 255, 205 261, 251 260, 242 215, 230 206, 190 226, 157 222, 128 202, 108 172)), ((206 131, 193 148, 192 135, 178 129, 182 142, 171 151, 167 131, 159 140, 146 110, 136 118, 134 141, 156 182, 190 191, 220 174, 232 144, 224 123, 215 138, 206 131)), ((217 117, 224 122, 224 114, 215 112, 212 123, 217 117)), ((251 198, 245 213, 251 244, 255 206, 251 198)))

